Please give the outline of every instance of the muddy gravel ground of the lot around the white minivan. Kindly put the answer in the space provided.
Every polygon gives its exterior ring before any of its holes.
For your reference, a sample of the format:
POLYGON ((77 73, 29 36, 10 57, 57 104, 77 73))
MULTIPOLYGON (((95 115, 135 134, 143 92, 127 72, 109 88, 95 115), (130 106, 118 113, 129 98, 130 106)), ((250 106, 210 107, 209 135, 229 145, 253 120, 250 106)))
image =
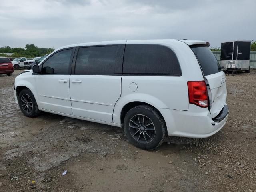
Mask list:
POLYGON ((1 192, 256 192, 256 71, 226 74, 230 115, 220 132, 172 138, 154 151, 113 126, 25 117, 13 96, 20 72, 0 75, 1 192))

